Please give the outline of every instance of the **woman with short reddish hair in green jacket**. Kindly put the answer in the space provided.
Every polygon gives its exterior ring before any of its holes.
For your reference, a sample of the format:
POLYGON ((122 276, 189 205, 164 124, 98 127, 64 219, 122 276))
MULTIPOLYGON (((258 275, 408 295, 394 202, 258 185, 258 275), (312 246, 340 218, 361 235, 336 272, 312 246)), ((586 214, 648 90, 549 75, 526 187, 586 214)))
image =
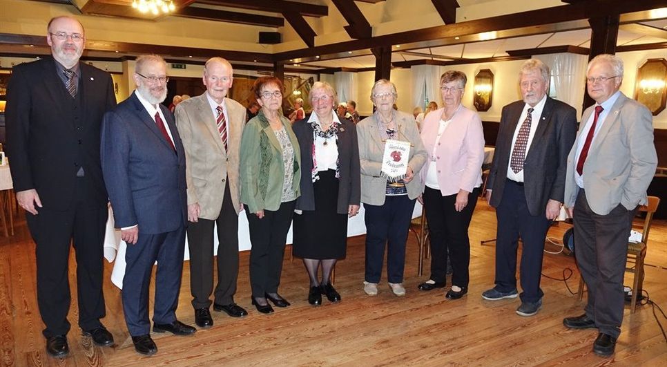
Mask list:
POLYGON ((260 77, 253 91, 262 109, 243 129, 241 202, 250 228, 250 285, 259 312, 287 307, 278 294, 287 232, 299 197, 300 150, 291 124, 280 113, 282 82, 260 77), (268 301, 267 301, 268 300, 268 301))

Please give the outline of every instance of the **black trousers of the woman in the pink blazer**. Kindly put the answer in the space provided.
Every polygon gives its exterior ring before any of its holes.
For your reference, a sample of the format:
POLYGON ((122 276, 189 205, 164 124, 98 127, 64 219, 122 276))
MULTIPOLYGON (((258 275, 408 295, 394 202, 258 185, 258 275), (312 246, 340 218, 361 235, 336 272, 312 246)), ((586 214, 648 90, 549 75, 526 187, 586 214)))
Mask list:
POLYGON ((470 238, 468 227, 479 197, 479 187, 468 194, 468 203, 456 211, 456 195, 442 196, 441 191, 426 187, 423 199, 431 243, 431 280, 447 279, 447 256, 452 265, 452 285, 467 288, 470 281, 470 238))

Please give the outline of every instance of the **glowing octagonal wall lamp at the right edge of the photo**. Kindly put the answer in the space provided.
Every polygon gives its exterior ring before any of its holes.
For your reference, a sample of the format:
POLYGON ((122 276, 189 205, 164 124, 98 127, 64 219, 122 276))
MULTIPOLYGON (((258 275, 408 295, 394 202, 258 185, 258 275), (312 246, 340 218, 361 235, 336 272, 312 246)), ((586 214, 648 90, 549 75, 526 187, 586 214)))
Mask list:
POLYGON ((667 102, 667 60, 648 59, 637 69, 635 100, 650 109, 657 116, 665 109, 667 102))

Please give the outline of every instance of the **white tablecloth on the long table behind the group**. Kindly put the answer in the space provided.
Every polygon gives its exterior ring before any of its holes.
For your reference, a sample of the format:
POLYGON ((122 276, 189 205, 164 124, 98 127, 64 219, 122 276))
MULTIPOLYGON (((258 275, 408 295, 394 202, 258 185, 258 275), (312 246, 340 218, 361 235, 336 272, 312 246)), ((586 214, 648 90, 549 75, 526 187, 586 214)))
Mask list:
MULTIPOLYGON (((421 216, 421 204, 415 203, 412 218, 421 216)), ((298 214, 294 214, 298 215, 298 214)), ((141 229, 139 229, 141 230, 141 229)), ((215 233, 215 232, 214 232, 215 233)), ((347 223, 347 236, 358 236, 366 233, 366 225, 364 223, 364 206, 361 205, 359 214, 349 219, 347 223)), ((244 211, 241 212, 238 218, 238 242, 239 250, 250 250, 250 234, 248 229, 248 218, 244 211)), ((213 236, 214 250, 218 252, 218 236, 213 236)), ((287 234, 287 243, 292 243, 292 228, 289 228, 287 234)), ((188 239, 185 239, 185 256, 184 260, 189 260, 190 252, 188 248, 188 239)), ((111 272, 111 282, 118 288, 123 288, 123 277, 125 276, 125 250, 127 244, 120 239, 120 230, 114 229, 113 212, 109 209, 109 219, 106 222, 106 236, 104 238, 104 257, 108 262, 115 260, 113 271, 111 272)), ((213 254, 211 254, 213 255, 213 254)))

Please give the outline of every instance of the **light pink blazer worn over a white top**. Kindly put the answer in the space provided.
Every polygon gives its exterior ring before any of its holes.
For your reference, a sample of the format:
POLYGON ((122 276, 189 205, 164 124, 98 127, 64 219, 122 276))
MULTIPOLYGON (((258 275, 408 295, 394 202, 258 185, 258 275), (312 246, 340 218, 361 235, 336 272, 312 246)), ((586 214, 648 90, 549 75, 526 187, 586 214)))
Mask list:
POLYGON ((421 170, 425 182, 433 147, 436 146, 436 168, 438 185, 443 196, 458 194, 459 189, 472 192, 482 183, 482 162, 484 161, 484 133, 479 115, 461 106, 447 129, 436 142, 438 126, 443 109, 426 115, 421 126, 421 139, 428 153, 428 160, 421 170))

